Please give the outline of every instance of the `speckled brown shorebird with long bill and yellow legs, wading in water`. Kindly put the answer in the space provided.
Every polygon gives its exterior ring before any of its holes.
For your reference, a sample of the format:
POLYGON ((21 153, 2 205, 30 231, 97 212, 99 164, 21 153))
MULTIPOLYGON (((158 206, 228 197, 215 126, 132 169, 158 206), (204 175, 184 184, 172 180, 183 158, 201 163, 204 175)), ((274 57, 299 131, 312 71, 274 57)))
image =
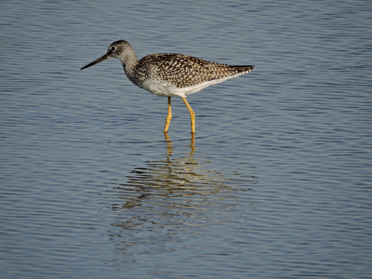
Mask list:
POLYGON ((195 113, 186 96, 212 84, 238 77, 253 71, 254 66, 232 66, 209 62, 182 54, 157 53, 138 60, 132 46, 124 40, 113 42, 108 52, 80 70, 88 68, 108 58, 118 58, 126 76, 132 83, 158 96, 168 97, 168 115, 164 126, 167 134, 172 118, 173 96, 180 96, 190 112, 191 134, 195 137, 195 113))

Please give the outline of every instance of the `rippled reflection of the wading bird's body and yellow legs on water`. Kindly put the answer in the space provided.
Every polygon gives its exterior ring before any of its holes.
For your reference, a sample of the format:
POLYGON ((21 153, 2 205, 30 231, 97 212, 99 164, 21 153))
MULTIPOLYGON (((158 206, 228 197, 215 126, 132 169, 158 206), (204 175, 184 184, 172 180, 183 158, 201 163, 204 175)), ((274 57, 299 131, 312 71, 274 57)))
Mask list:
MULTIPOLYGON (((195 158, 196 145, 194 139, 189 145, 189 152, 174 158, 173 142, 166 135, 166 153, 163 160, 146 161, 143 167, 136 167, 125 183, 111 183, 118 190, 119 199, 123 203, 113 205, 113 210, 131 209, 136 206, 167 210, 177 208, 201 208, 205 206, 227 206, 215 203, 232 197, 236 189, 225 183, 228 178, 218 171, 207 169, 208 162, 195 158)), ((230 182, 244 184, 257 183, 256 177, 250 179, 234 177, 230 182)), ((230 183, 231 184, 231 183, 230 183)), ((250 189, 251 190, 251 189, 250 189)))

